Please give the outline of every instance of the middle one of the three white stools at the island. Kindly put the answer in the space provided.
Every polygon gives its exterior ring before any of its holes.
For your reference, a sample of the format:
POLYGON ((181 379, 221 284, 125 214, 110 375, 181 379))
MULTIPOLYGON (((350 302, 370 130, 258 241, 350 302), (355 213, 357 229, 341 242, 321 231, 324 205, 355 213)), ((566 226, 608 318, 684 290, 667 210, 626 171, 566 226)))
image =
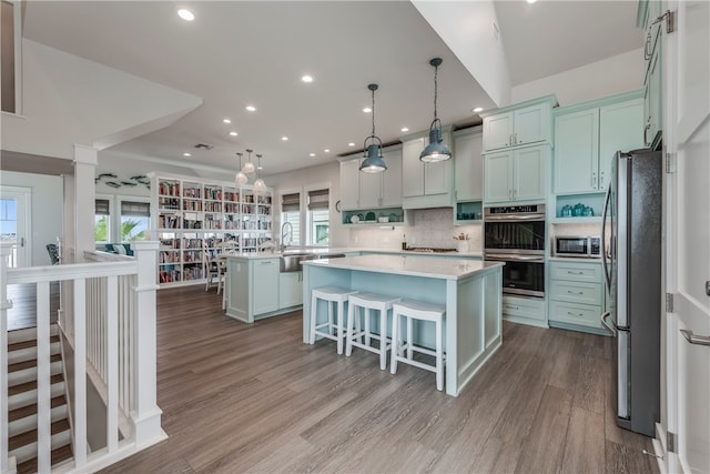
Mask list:
POLYGON ((345 355, 351 356, 353 346, 361 347, 375 354, 379 354, 379 369, 387 367, 387 350, 390 347, 387 337, 387 312, 392 310, 393 303, 399 301, 398 297, 383 296, 374 293, 351 294, 347 299, 347 333, 345 334, 345 355), (359 329, 359 310, 365 310, 365 324, 359 329), (373 311, 378 311, 379 334, 373 333, 369 327, 369 320, 373 311), (365 336, 365 342, 362 337, 365 336), (379 341, 379 345, 374 347, 372 340, 379 341))

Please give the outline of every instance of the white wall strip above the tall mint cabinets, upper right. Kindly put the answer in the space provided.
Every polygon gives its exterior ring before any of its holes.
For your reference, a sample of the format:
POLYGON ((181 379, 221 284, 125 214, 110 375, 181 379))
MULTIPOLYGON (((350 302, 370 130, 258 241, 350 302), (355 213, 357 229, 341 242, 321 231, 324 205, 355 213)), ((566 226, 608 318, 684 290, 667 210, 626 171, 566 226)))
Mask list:
POLYGON ((555 94, 560 105, 585 102, 643 87, 646 64, 638 49, 549 75, 511 90, 511 102, 555 94))

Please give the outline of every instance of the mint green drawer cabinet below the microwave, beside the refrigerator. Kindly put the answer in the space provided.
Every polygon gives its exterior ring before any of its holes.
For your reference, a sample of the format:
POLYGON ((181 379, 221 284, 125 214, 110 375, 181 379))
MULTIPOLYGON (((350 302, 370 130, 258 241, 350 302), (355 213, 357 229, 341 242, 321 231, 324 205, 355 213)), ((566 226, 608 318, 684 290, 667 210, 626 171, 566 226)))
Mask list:
POLYGON ((551 261, 549 325, 607 334, 600 316, 605 307, 601 262, 551 261))

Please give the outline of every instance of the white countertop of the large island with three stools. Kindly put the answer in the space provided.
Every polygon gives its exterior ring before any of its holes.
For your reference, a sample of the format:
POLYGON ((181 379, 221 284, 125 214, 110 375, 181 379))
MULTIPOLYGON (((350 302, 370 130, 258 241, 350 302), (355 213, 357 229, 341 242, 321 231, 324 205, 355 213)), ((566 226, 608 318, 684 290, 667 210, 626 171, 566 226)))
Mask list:
POLYGON ((462 280, 476 273, 504 265, 503 262, 486 262, 469 259, 430 259, 413 253, 407 253, 403 256, 362 255, 342 259, 308 260, 304 261, 303 264, 445 280, 462 280))

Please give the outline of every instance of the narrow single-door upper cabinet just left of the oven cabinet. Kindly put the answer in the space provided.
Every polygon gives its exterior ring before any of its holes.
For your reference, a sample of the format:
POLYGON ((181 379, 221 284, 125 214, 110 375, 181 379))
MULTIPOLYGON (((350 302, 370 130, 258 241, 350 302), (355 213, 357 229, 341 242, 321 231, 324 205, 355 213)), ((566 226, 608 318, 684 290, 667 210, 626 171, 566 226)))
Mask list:
POLYGON ((484 196, 483 134, 475 131, 455 132, 454 175, 456 201, 480 201, 484 196))

